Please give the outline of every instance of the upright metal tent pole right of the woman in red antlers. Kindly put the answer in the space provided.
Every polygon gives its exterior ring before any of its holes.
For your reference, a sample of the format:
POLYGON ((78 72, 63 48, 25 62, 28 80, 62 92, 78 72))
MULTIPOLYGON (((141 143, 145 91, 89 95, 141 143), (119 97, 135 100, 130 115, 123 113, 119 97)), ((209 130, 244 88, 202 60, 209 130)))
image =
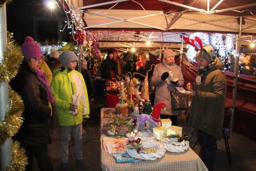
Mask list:
MULTIPOLYGON (((233 79, 233 91, 232 91, 232 108, 235 114, 236 107, 236 91, 237 91, 237 82, 238 82, 238 72, 239 72, 239 54, 241 46, 241 35, 242 35, 242 17, 240 17, 240 26, 239 33, 236 35, 236 58, 235 58, 235 68, 234 68, 234 79, 233 79)), ((234 115, 230 119, 230 131, 233 131, 234 125, 234 115)))

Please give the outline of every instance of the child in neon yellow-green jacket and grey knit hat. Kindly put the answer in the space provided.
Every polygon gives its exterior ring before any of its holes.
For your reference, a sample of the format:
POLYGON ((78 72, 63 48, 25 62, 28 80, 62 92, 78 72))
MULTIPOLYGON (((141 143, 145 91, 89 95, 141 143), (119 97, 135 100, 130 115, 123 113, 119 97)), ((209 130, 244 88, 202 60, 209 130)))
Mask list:
POLYGON ((64 51, 60 54, 62 67, 55 70, 51 84, 53 97, 56 99, 58 121, 61 126, 61 171, 68 171, 68 143, 70 133, 74 135, 76 165, 88 169, 88 161, 83 159, 82 122, 90 118, 90 106, 87 89, 82 74, 75 70, 78 57, 74 52, 64 51))

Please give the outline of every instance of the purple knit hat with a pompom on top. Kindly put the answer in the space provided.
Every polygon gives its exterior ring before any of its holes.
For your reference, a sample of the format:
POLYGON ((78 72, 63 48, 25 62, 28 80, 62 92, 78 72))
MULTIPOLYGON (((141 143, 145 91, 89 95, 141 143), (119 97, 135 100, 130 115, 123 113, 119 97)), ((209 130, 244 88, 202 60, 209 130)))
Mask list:
POLYGON ((22 54, 25 59, 42 57, 42 50, 40 46, 34 42, 34 39, 30 36, 26 37, 24 44, 21 46, 22 54))

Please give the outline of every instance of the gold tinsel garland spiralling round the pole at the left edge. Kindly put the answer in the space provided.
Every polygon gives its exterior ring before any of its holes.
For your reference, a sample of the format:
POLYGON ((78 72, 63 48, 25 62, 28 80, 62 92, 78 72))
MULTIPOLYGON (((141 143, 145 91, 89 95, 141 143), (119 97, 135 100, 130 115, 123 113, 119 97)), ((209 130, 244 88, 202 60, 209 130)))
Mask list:
MULTIPOLYGON (((0 1, 2 3, 2 1, 0 1)), ((23 56, 20 46, 12 40, 12 34, 7 33, 7 50, 4 52, 4 60, 0 61, 0 86, 3 82, 10 82, 18 73, 23 56)), ((22 112, 24 105, 18 93, 9 87, 9 110, 5 113, 4 120, 0 120, 0 150, 5 141, 15 135, 22 125, 22 112)), ((20 148, 18 142, 12 143, 12 159, 6 167, 6 171, 25 170, 27 165, 25 150, 20 148)))

